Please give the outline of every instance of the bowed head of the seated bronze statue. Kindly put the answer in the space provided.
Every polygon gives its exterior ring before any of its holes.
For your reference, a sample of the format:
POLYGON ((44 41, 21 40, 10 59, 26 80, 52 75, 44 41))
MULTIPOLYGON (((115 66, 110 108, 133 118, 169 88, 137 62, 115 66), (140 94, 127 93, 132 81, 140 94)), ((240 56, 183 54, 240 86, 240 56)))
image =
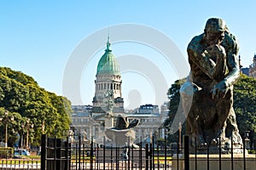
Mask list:
POLYGON ((224 32, 227 30, 225 21, 218 18, 207 20, 205 27, 205 40, 209 45, 221 43, 224 40, 224 32))

